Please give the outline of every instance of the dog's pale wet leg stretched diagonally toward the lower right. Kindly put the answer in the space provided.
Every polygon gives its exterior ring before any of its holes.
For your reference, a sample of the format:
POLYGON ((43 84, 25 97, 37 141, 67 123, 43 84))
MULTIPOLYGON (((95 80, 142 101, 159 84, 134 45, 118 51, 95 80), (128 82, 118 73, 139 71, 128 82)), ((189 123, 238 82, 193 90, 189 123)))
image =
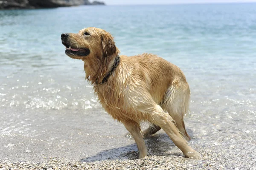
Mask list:
POLYGON ((144 112, 148 113, 148 121, 160 126, 186 157, 201 158, 201 154, 189 147, 186 140, 180 135, 172 116, 165 113, 159 105, 155 104, 151 108, 147 108, 144 112))

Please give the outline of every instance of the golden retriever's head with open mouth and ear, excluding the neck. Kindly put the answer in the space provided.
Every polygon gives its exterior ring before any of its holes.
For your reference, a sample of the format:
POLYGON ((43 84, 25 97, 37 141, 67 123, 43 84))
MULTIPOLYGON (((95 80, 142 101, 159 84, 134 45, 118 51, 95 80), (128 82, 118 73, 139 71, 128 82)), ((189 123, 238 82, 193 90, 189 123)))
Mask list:
POLYGON ((74 59, 108 57, 118 52, 112 35, 100 28, 84 28, 78 34, 63 33, 61 41, 65 53, 74 59))

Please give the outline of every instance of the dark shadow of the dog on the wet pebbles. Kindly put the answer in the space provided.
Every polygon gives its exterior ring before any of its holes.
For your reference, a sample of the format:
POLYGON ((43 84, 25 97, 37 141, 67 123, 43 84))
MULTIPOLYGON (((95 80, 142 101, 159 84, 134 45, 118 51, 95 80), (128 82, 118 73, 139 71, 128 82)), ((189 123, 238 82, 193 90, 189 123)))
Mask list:
MULTIPOLYGON (((190 130, 189 130, 190 132, 190 130)), ((191 134, 191 132, 190 132, 191 134)), ((134 139, 127 139, 134 140, 134 139)), ((172 150, 175 148, 175 144, 169 138, 166 133, 157 133, 153 136, 149 136, 145 139, 149 155, 155 156, 183 156, 182 152, 172 150), (177 151, 177 152, 176 152, 177 151)), ((104 161, 104 160, 124 160, 124 159, 138 159, 139 152, 136 143, 130 144, 123 147, 117 147, 109 150, 103 150, 94 156, 90 156, 84 159, 80 159, 81 162, 93 162, 93 161, 104 161)))

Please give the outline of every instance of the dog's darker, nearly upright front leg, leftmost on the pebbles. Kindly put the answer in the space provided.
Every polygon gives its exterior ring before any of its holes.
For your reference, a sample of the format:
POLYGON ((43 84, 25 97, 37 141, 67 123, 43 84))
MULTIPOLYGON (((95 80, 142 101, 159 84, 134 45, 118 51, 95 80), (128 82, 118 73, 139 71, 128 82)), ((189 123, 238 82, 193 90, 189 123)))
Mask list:
POLYGON ((143 140, 143 137, 140 133, 140 125, 137 122, 129 121, 122 122, 125 125, 125 128, 131 133, 131 136, 134 138, 138 150, 139 150, 139 159, 148 155, 147 147, 143 140))

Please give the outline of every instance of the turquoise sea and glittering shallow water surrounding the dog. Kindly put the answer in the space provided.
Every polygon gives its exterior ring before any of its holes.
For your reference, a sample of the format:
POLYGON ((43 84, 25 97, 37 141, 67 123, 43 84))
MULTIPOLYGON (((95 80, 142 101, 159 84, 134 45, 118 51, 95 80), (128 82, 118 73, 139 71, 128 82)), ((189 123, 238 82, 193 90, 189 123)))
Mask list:
POLYGON ((121 54, 158 54, 183 70, 192 92, 186 125, 195 139, 208 140, 198 147, 209 144, 213 129, 255 134, 255 9, 249 3, 0 11, 0 159, 96 160, 102 150, 119 148, 111 153, 117 157, 137 150, 97 102, 83 63, 64 54, 61 33, 90 26, 111 32, 121 54))

